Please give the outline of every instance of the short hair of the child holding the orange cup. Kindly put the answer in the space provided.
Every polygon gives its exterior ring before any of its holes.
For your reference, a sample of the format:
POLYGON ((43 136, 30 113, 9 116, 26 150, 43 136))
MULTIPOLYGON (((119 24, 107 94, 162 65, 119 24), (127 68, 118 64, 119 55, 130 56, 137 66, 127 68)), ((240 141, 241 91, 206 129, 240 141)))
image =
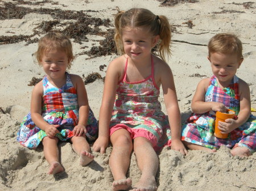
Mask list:
POLYGON ((242 42, 233 33, 218 33, 213 36, 208 43, 208 54, 237 54, 237 58, 242 58, 242 42))

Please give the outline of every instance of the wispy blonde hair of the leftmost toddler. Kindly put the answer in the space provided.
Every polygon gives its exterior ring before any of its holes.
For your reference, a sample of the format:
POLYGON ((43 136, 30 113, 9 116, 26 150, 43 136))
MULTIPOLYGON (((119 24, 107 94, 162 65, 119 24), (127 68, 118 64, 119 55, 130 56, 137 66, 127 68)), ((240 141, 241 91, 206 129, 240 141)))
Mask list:
POLYGON ((62 50, 67 54, 68 69, 70 69, 74 60, 72 43, 67 36, 59 32, 49 32, 39 40, 38 50, 35 52, 39 65, 42 65, 43 54, 52 49, 62 50))

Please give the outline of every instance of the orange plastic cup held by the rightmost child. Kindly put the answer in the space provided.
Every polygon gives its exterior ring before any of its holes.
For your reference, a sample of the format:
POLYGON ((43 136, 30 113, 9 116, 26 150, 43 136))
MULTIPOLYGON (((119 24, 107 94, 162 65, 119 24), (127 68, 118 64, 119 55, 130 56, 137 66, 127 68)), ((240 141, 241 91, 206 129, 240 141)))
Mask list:
POLYGON ((228 138, 228 133, 221 133, 220 129, 218 129, 218 121, 225 122, 227 118, 234 118, 235 112, 231 109, 227 109, 226 113, 216 112, 216 120, 215 120, 215 128, 214 135, 215 137, 226 139, 228 138))

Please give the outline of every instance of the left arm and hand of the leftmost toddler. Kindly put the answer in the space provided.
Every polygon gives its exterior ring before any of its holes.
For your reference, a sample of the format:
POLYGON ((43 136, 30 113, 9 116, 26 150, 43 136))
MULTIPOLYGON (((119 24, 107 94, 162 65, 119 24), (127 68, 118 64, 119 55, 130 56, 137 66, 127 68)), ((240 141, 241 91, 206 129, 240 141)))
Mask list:
POLYGON ((57 130, 59 125, 50 125, 46 121, 44 121, 42 117, 42 96, 43 82, 40 81, 38 84, 36 84, 32 91, 30 104, 31 118, 32 121, 34 121, 35 125, 38 126, 38 128, 45 131, 49 138, 53 138, 56 135, 56 133, 59 133, 59 130, 57 130))

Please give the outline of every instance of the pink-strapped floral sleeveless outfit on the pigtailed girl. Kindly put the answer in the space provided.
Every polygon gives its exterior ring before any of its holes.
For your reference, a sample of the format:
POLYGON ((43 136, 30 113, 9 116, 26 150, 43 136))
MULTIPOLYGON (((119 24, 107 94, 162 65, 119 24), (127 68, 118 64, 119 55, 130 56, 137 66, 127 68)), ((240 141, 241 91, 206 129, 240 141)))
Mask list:
POLYGON ((154 62, 151 58, 151 75, 139 82, 126 81, 127 63, 128 58, 115 95, 110 135, 115 130, 126 129, 132 139, 147 138, 159 152, 163 146, 171 145, 171 131, 158 101, 160 91, 154 80, 154 62))

